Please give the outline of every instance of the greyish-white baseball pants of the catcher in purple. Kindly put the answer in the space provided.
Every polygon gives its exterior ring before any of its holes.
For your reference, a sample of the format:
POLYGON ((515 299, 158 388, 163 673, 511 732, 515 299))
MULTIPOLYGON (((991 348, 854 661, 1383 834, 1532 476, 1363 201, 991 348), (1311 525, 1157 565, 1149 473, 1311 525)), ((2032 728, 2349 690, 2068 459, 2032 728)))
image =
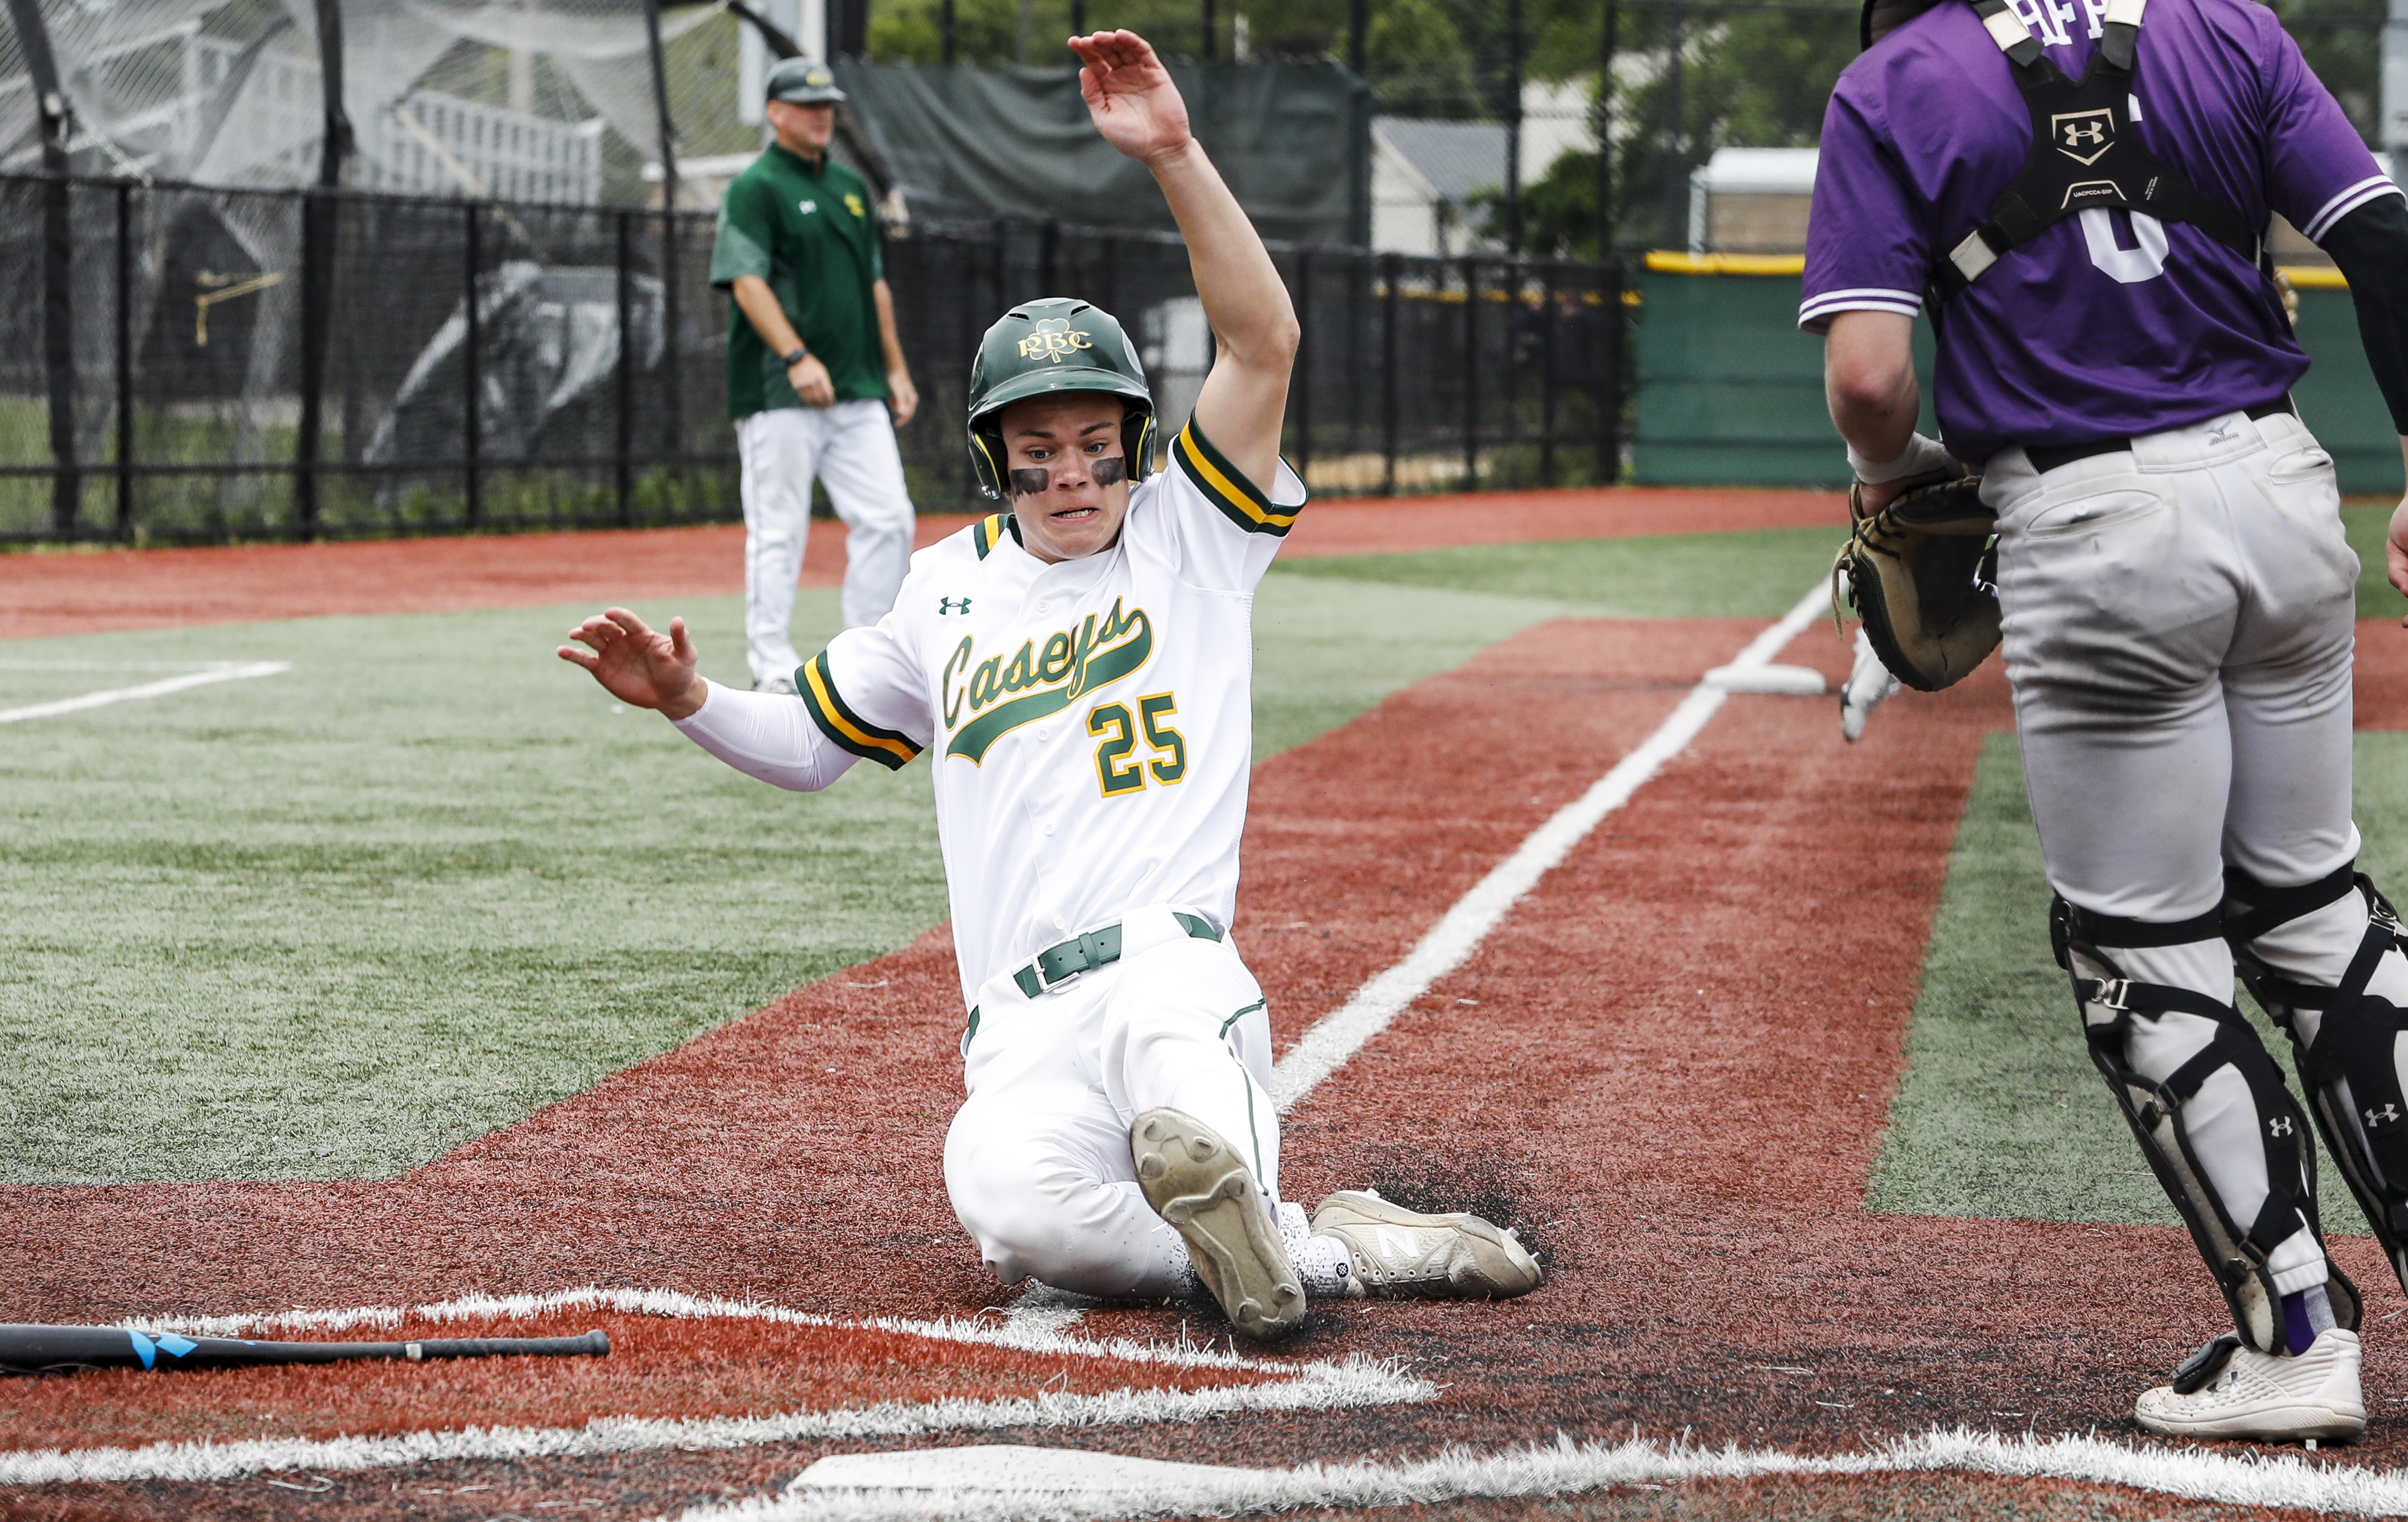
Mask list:
MULTIPOLYGON (((2350 655, 2357 556, 2331 458, 2290 417, 2230 412, 2035 474, 1989 460, 1999 604, 2023 773, 2049 884, 2078 908, 2174 922, 2223 903, 2232 862, 2271 886, 2357 855, 2350 655)), ((2357 896, 2256 944, 2333 985, 2365 934, 2357 896)), ((2109 951, 2121 971, 2230 1002, 2225 942, 2109 951)), ((2398 963, 2398 958, 2389 958, 2398 963)), ((2389 966, 2377 983, 2408 971, 2389 966)), ((2408 992, 2408 990, 2403 990, 2408 992)), ((2133 1021, 2126 1062, 2167 1079, 2206 1048, 2194 1014, 2133 1021)), ((2266 1202, 2256 1103, 2223 1069, 2186 1105, 2230 1214, 2266 1202)), ((2268 1257, 2278 1293, 2326 1281, 2302 1228, 2268 1257)))

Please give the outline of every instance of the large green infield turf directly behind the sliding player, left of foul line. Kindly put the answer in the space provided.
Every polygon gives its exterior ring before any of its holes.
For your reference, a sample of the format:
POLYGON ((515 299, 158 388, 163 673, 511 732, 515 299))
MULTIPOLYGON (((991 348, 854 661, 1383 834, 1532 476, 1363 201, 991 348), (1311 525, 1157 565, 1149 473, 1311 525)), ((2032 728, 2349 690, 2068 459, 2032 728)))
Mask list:
MULTIPOLYGON (((742 679, 739 602, 679 609, 742 679)), ((1553 614, 1274 578, 1257 751, 1553 614)), ((925 763, 771 790, 554 660, 571 619, 0 645, 0 708, 294 665, 0 725, 0 1180, 390 1175, 944 918, 925 763)))

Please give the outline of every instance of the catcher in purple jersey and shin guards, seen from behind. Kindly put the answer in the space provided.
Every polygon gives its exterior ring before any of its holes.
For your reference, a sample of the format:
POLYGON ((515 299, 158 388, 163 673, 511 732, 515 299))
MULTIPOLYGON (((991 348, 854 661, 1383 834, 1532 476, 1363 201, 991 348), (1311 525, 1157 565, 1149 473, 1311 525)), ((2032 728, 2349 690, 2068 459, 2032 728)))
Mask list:
MULTIPOLYGON (((2408 956, 2355 872, 2357 559, 2261 236, 2280 212, 2341 265, 2408 458, 2408 202, 2249 0, 1871 0, 1864 34, 1799 323, 1869 511, 1965 467, 1996 511, 2056 958, 2235 1327, 2136 1416, 2355 1438, 2360 1300, 2307 1125, 2408 1286, 2408 956)), ((2408 590, 2408 503, 2389 561, 2408 590)))

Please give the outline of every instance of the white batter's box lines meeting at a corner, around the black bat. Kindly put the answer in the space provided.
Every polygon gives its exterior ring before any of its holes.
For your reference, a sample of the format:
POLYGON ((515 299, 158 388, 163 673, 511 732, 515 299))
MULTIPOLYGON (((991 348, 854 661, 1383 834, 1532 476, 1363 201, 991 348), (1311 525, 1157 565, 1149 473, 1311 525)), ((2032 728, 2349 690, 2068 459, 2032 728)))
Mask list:
MULTIPOLYGON (((778 1411, 768 1416, 653 1418, 600 1416, 576 1428, 460 1428, 376 1438, 262 1438, 250 1443, 152 1443, 144 1447, 75 1447, 0 1452, 0 1486, 70 1481, 219 1481, 279 1469, 395 1469, 455 1459, 595 1457, 660 1450, 730 1450, 761 1443, 925 1438, 934 1433, 982 1433, 1011 1428, 1084 1428, 1117 1423, 1206 1421, 1245 1411, 1329 1411, 1438 1399, 1438 1385, 1406 1375, 1387 1358, 1317 1358, 1269 1363, 1235 1351, 1194 1344, 1156 1344, 1127 1337, 1084 1339, 1050 1327, 901 1317, 840 1320, 759 1300, 713 1300, 677 1291, 573 1288, 549 1296, 465 1296, 436 1305, 352 1310, 294 1310, 238 1317, 154 1317, 128 1327, 181 1329, 205 1337, 246 1332, 332 1332, 342 1327, 395 1325, 405 1315, 424 1320, 474 1320, 537 1315, 547 1310, 619 1310, 662 1317, 734 1317, 799 1327, 860 1327, 905 1332, 937 1341, 966 1341, 1033 1353, 1064 1353, 1156 1363, 1178 1368, 1243 1368, 1262 1375, 1255 1385, 1218 1390, 1108 1390, 1100 1394, 1035 1394, 1011 1399, 879 1402, 840 1411, 778 1411)), ((171 1380, 207 1380, 176 1373, 171 1380)))

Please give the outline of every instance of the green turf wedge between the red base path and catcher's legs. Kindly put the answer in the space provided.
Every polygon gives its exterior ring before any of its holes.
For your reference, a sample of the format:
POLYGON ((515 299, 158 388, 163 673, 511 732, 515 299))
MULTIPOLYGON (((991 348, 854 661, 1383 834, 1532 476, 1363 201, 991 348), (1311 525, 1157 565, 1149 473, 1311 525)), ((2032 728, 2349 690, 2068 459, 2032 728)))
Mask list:
MULTIPOLYGON (((2357 737, 2357 826, 2360 865, 2382 884, 2408 884, 2408 735, 2357 737)), ((2047 905, 2015 737, 1991 735, 1948 860, 1866 1209, 2179 1226, 2090 1067, 2066 978, 2049 961, 2047 905)), ((2237 997, 2288 1072, 2288 1038, 2237 997)), ((2338 1180, 2331 1158, 2319 1168, 2338 1180)), ((2338 1185, 2333 1194, 2329 1223, 2362 1231, 2338 1185)))

